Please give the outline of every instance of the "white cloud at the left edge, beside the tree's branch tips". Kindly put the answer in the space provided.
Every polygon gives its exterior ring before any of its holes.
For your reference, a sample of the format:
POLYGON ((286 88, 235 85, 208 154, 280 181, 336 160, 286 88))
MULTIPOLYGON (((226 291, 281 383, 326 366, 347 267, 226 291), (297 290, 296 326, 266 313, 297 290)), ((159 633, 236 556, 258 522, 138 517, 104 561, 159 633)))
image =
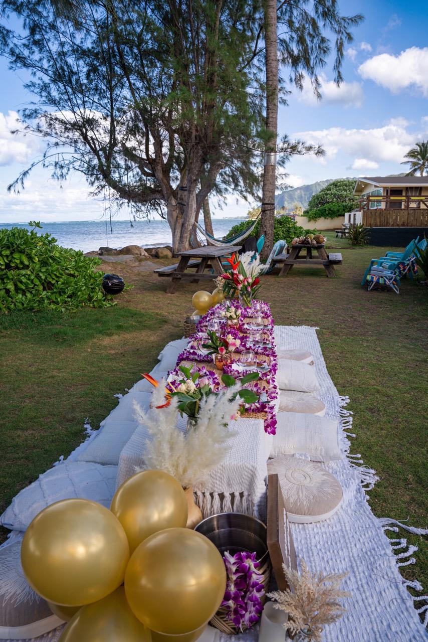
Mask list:
POLYGON ((31 134, 11 134, 19 128, 17 112, 0 112, 0 166, 13 162, 26 163, 40 152, 40 141, 31 134))

